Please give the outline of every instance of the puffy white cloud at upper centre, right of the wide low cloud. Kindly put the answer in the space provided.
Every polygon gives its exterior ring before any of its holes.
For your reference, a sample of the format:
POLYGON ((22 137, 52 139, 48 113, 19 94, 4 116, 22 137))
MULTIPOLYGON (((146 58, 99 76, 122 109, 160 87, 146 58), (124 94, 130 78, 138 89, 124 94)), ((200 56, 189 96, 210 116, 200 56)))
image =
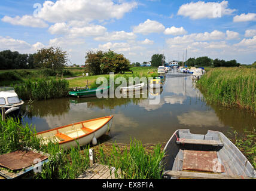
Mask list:
POLYGON ((134 33, 142 33, 147 35, 149 33, 160 33, 163 32, 165 27, 163 24, 155 20, 146 20, 144 23, 140 23, 138 26, 133 27, 134 33))

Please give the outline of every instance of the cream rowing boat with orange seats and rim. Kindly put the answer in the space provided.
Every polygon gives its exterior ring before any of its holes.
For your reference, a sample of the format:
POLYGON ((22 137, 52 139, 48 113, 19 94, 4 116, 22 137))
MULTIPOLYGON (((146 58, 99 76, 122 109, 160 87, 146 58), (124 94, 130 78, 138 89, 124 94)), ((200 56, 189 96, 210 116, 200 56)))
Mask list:
POLYGON ((36 137, 41 138, 41 144, 48 144, 51 141, 66 149, 77 147, 77 142, 80 146, 86 145, 110 130, 113 117, 111 115, 57 127, 37 133, 36 137))

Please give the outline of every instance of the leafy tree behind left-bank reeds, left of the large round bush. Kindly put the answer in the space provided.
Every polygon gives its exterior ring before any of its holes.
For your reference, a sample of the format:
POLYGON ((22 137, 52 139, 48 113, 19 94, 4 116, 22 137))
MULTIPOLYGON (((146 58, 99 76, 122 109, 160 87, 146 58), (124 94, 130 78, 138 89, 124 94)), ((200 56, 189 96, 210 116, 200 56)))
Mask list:
POLYGON ((34 61, 39 67, 63 69, 68 61, 68 54, 59 47, 42 48, 35 54, 34 61))

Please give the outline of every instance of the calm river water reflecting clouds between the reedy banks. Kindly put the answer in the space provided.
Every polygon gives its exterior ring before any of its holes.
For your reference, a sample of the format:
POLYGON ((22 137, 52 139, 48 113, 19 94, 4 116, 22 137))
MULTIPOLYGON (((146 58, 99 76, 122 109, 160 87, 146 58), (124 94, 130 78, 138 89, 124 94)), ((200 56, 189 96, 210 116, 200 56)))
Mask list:
POLYGON ((130 143, 131 138, 142 143, 164 143, 174 131, 190 129, 206 134, 208 130, 239 132, 252 130, 256 118, 246 110, 209 105, 195 88, 191 75, 166 75, 162 90, 148 91, 148 98, 59 98, 26 103, 22 109, 23 124, 35 125, 36 131, 114 115, 111 131, 104 141, 130 143), (159 100, 152 104, 152 98, 159 100))

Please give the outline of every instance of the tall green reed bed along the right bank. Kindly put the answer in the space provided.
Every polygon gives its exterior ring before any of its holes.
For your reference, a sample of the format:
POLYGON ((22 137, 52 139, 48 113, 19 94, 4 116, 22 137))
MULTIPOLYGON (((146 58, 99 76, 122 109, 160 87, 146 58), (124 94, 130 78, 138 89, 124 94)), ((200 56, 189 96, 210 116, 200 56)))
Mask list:
POLYGON ((256 112, 256 69, 212 69, 197 82, 206 101, 256 112))

